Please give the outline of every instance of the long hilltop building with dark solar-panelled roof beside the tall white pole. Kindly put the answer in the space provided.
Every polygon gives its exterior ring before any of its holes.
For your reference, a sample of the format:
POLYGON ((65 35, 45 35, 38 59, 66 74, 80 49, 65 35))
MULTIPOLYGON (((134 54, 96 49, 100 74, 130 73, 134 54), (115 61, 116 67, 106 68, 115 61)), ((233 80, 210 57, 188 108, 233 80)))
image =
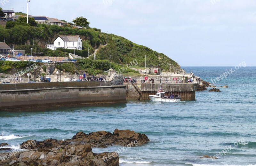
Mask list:
POLYGON ((52 19, 45 16, 29 16, 29 17, 34 18, 37 24, 47 24, 47 25, 57 25, 57 26, 68 24, 67 22, 64 22, 58 19, 52 19))

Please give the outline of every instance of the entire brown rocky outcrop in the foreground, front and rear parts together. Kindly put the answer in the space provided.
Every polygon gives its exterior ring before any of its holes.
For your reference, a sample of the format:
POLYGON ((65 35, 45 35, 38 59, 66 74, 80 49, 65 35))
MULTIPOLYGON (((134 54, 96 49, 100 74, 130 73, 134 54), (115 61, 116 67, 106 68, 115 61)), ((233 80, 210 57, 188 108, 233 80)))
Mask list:
POLYGON ((113 144, 125 146, 134 140, 138 142, 138 145, 149 141, 145 134, 118 129, 113 133, 106 131, 89 134, 78 132, 72 139, 64 141, 56 139, 28 140, 20 145, 20 148, 25 151, 1 153, 0 165, 118 166, 118 153, 95 154, 92 152, 92 147, 106 147, 106 145, 113 144))

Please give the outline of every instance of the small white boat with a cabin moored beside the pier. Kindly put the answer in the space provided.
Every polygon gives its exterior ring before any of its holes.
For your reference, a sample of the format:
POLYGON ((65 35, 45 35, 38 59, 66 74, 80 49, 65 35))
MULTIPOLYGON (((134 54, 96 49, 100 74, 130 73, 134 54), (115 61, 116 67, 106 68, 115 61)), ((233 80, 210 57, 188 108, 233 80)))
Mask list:
POLYGON ((180 96, 164 96, 166 92, 157 92, 156 95, 148 95, 149 99, 152 101, 161 101, 161 102, 180 102, 180 96))

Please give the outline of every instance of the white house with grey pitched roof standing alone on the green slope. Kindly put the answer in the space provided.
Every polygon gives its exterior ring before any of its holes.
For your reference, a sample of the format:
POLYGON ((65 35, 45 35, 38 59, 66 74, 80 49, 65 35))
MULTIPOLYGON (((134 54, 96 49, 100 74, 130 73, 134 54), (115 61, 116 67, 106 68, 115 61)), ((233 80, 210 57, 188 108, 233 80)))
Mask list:
POLYGON ((56 50, 57 48, 82 50, 82 40, 80 36, 59 36, 53 45, 48 44, 47 48, 56 50))

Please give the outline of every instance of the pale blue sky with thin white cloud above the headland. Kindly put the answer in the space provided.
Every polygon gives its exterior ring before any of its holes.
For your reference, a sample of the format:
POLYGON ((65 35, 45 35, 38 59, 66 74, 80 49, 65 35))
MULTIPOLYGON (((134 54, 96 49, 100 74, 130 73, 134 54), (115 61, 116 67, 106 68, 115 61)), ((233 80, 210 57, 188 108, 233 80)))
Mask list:
MULTIPOLYGON (((27 0, 0 0, 0 7, 26 12, 27 0)), ((31 0, 29 15, 68 22, 83 16, 90 27, 180 66, 256 66, 255 0, 31 0)))

